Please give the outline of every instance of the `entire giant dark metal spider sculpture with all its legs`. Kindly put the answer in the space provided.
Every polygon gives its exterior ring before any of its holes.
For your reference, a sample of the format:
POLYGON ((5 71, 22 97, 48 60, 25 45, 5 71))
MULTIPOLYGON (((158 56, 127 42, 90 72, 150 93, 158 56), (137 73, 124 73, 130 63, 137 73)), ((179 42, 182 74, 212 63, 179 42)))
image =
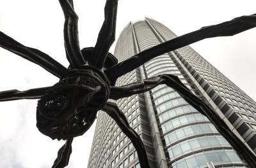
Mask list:
POLYGON ((74 11, 73 2, 72 0, 59 1, 65 15, 64 38, 67 59, 70 63, 68 68, 40 50, 24 46, 0 32, 1 47, 44 67, 60 78, 60 81, 52 87, 0 92, 0 101, 40 99, 36 109, 36 127, 52 139, 66 140, 66 143, 58 151, 58 158, 52 167, 65 167, 68 164, 73 138, 83 135, 90 128, 99 110, 106 111, 124 134, 131 139, 138 152, 141 167, 150 167, 140 136, 129 126, 124 113, 118 106, 113 102, 108 102, 108 99, 116 100, 133 94, 140 94, 161 84, 172 87, 191 106, 207 116, 246 162, 252 167, 256 167, 256 157, 253 151, 248 150, 228 129, 220 116, 186 88, 177 76, 162 74, 122 87, 115 87, 115 81, 119 76, 163 53, 205 38, 232 36, 255 27, 256 15, 238 17, 222 24, 203 27, 198 31, 166 41, 118 63, 116 58, 108 53, 110 46, 115 41, 118 0, 106 1, 105 20, 100 29, 97 43, 94 48, 83 48, 83 50, 79 48, 78 17, 74 11))

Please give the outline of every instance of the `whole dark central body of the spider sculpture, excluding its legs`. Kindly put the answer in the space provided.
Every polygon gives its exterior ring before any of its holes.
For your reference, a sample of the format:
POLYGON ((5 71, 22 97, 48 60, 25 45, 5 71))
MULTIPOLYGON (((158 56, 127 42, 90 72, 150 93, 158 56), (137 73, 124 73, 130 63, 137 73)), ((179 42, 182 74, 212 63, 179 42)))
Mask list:
MULTIPOLYGON (((84 59, 92 60, 94 48, 83 48, 84 59)), ((106 105, 111 81, 104 69, 117 64, 108 53, 102 69, 92 65, 69 67, 67 73, 39 101, 36 110, 36 127, 52 139, 67 140, 81 136, 95 121, 97 111, 106 105), (96 88, 96 90, 95 90, 96 88), (88 94, 93 90, 88 99, 88 94)), ((112 81, 115 85, 115 81, 112 81)))

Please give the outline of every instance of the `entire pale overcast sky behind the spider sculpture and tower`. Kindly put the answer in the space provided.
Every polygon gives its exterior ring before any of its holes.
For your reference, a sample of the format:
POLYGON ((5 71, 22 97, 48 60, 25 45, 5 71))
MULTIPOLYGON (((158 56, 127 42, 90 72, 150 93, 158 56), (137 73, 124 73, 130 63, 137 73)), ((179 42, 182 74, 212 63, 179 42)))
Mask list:
MULTIPOLYGON (((104 0, 74 0, 81 48, 95 45, 104 19, 104 4, 104 0)), ((116 39, 128 22, 144 17, 161 22, 180 36, 205 25, 256 13, 255 0, 120 0, 118 5, 116 39)), ((57 0, 1 0, 0 31, 68 66, 63 22, 57 0)), ((256 29, 251 29, 233 37, 205 39, 191 46, 256 100, 255 39, 256 29)), ((41 67, 2 48, 0 72, 0 90, 26 90, 58 82, 41 67)), ((51 167, 64 142, 52 141, 38 132, 36 100, 1 102, 0 111, 0 167, 51 167)), ((83 136, 74 139, 68 167, 87 167, 95 123, 83 136)))

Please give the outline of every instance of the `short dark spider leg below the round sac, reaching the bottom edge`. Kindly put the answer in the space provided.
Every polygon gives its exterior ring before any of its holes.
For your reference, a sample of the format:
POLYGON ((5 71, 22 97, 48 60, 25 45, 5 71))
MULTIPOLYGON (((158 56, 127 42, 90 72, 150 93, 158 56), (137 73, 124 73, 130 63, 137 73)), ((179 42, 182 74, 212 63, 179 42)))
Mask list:
POLYGON ((66 143, 58 151, 58 157, 54 161, 52 168, 63 168, 68 165, 70 155, 72 153, 72 139, 68 139, 66 143))

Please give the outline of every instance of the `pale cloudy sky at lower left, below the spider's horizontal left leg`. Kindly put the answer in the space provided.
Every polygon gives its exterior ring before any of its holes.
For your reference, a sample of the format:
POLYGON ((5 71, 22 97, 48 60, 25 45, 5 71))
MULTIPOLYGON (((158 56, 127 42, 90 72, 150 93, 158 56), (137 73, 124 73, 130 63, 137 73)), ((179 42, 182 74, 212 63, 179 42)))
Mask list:
MULTIPOLYGON (((52 141, 36 128, 36 101, 3 102, 0 109, 0 167, 49 168, 64 141, 52 141)), ((95 122, 96 123, 96 122, 95 122)), ((83 136, 76 137, 68 167, 87 165, 95 123, 83 136)))

